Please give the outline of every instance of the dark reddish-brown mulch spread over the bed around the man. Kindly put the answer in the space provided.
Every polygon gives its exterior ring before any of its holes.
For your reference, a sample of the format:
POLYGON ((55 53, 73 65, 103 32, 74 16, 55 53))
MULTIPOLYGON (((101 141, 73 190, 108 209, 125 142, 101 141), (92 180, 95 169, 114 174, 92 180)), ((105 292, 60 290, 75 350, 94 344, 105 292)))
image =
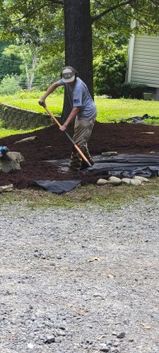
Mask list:
MULTIPOLYGON (((73 135, 73 127, 68 129, 73 135)), ((45 160, 61 160, 71 154, 72 145, 57 126, 14 135, 0 139, 0 145, 6 145, 10 151, 21 152, 25 162, 21 169, 8 174, 1 173, 0 185, 13 184, 18 189, 26 188, 35 180, 70 180, 82 179, 83 182, 95 182, 98 177, 61 173, 57 164, 45 160), (15 144, 26 137, 37 136, 35 140, 15 144)), ((117 151, 118 153, 145 153, 159 151, 159 126, 146 124, 100 124, 95 123, 89 141, 90 154, 100 155, 102 152, 117 151), (154 132, 148 134, 147 132, 154 132)), ((102 177, 100 175, 100 177, 102 177)))

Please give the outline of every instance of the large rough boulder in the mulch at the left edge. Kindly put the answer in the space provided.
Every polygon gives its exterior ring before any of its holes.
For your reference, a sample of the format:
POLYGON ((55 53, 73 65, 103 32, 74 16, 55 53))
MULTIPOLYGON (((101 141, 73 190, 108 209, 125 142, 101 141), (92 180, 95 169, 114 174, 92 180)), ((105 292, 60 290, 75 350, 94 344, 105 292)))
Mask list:
POLYGON ((7 152, 0 158, 0 172, 8 173, 11 170, 20 169, 20 163, 24 161, 20 152, 7 152))

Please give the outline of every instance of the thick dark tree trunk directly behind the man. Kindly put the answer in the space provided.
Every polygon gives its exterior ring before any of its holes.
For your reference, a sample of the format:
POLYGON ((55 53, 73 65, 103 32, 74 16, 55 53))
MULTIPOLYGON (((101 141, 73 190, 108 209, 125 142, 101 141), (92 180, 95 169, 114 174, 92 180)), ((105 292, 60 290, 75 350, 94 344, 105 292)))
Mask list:
MULTIPOLYGON (((65 65, 78 71, 93 97, 93 53, 90 0, 64 0, 65 65)), ((70 112, 70 102, 64 95, 62 117, 70 112)))

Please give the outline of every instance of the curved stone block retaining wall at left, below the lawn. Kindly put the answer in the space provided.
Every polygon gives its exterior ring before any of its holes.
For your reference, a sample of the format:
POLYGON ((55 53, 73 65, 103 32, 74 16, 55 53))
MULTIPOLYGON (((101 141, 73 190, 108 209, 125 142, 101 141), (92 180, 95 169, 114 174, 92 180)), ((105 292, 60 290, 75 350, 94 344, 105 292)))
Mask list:
POLYGON ((54 124, 48 114, 36 113, 30 110, 0 104, 0 119, 6 128, 38 128, 54 124))

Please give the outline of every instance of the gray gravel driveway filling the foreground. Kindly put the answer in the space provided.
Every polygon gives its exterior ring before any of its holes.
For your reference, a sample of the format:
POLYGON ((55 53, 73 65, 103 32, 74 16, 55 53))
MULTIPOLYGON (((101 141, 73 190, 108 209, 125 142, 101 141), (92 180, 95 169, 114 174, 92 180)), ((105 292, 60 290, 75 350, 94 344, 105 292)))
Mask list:
POLYGON ((3 205, 0 352, 159 352, 158 206, 3 205))

